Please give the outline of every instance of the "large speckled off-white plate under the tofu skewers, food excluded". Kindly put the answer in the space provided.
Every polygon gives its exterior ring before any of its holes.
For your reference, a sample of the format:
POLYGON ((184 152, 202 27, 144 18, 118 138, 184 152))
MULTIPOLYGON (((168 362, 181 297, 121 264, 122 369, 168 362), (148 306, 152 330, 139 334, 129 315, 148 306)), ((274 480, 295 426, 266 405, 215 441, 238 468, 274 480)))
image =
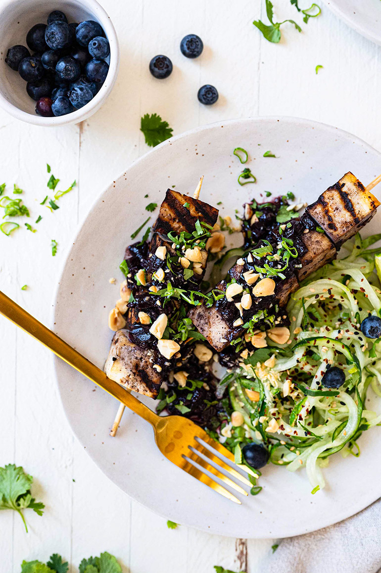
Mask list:
MULTIPOLYGON (((234 217, 235 209, 265 190, 273 197, 293 191, 312 202, 349 170, 368 183, 381 171, 381 155, 350 134, 295 118, 227 121, 162 143, 110 185, 88 215, 59 282, 55 331, 103 366, 112 339, 108 313, 118 298, 109 278, 122 280, 118 265, 130 234, 147 217, 145 205, 160 204, 167 187, 193 193, 203 174, 203 200, 223 201, 221 214, 234 217), (254 185, 237 185, 243 168, 232 154, 237 146, 249 151, 254 185), (268 150, 276 159, 263 157, 268 150)), ((381 212, 366 233, 374 233, 380 220, 381 212)), ((331 458, 322 492, 311 495, 304 470, 289 473, 270 465, 260 480, 263 491, 239 506, 166 461, 151 427, 137 415, 126 411, 111 438, 114 399, 59 359, 55 372, 69 423, 94 462, 129 496, 176 523, 233 537, 292 536, 336 523, 381 495, 378 427, 360 438, 360 458, 331 458)), ((146 403, 154 408, 150 399, 146 403)))

